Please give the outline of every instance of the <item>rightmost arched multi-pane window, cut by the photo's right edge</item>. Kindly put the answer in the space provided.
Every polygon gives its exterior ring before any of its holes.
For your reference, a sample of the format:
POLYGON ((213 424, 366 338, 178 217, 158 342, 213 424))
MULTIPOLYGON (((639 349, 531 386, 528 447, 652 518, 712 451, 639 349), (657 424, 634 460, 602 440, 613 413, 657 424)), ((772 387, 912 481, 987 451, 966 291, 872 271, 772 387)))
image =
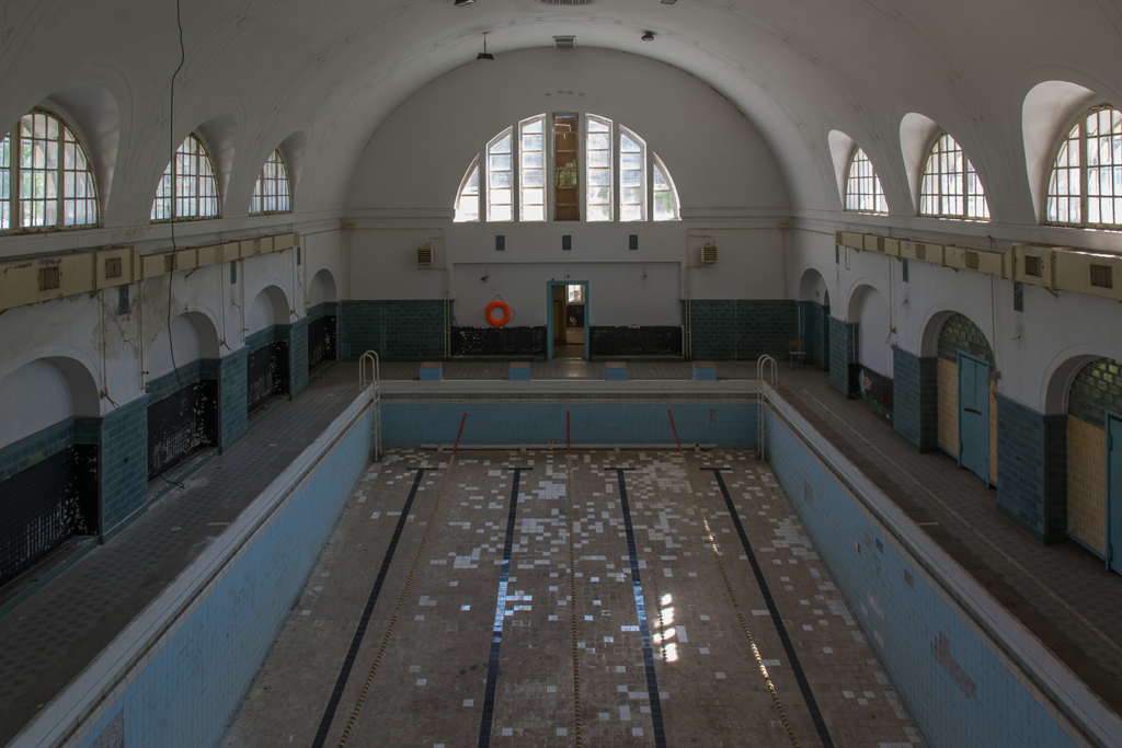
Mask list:
POLYGON ((1048 221, 1122 224, 1122 112, 1098 107, 1079 118, 1056 153, 1048 221))

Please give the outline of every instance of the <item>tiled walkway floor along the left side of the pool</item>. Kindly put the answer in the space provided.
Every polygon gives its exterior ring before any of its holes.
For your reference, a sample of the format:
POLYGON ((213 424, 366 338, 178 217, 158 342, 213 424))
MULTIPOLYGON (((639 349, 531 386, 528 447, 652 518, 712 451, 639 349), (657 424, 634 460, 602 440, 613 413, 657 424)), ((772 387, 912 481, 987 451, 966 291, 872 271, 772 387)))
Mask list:
POLYGON ((0 619, 0 745, 116 637, 358 394, 337 364, 0 619))

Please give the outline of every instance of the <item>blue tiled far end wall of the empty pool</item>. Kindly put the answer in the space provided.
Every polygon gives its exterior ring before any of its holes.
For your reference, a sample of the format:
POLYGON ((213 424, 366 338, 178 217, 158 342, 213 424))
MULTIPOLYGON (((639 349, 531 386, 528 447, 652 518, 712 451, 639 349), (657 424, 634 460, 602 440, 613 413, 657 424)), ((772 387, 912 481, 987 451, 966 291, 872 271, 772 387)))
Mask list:
MULTIPOLYGON (((618 399, 618 398, 617 398, 618 399)), ((381 403, 381 437, 386 446, 452 444, 463 422, 461 445, 565 444, 565 403, 381 403)), ((568 405, 573 444, 673 444, 664 403, 573 401, 568 405)), ((757 441, 756 403, 723 403, 695 398, 671 401, 670 410, 682 446, 753 449, 757 441)))

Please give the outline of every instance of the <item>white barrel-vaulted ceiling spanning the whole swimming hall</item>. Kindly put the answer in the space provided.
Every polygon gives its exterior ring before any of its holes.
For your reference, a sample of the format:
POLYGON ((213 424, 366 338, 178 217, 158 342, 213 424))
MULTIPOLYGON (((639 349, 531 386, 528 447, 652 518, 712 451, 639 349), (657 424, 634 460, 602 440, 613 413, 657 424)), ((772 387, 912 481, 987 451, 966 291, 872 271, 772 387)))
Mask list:
POLYGON ((1034 224, 1026 95, 1066 81, 1122 103, 1122 8, 1110 0, 185 0, 182 16, 186 64, 171 133, 173 1, 4 6, 0 128, 50 98, 112 161, 99 176, 116 225, 147 223, 169 137, 201 127, 220 146, 232 203, 248 204, 260 164, 288 139, 301 211, 339 209, 379 123, 424 84, 473 64, 484 31, 497 56, 574 35, 580 47, 697 76, 756 124, 795 214, 808 216, 840 210, 831 130, 870 155, 892 213, 913 214, 901 121, 916 112, 962 144, 995 222, 1034 224), (641 40, 645 30, 654 41, 641 40))

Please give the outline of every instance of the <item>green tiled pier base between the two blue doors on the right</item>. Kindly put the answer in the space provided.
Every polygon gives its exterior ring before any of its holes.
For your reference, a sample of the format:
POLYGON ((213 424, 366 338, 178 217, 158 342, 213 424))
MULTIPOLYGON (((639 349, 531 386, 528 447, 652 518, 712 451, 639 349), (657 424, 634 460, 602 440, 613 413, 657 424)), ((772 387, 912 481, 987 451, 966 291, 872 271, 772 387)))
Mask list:
POLYGON ((1043 543, 1067 530, 1067 416, 997 400, 997 509, 1043 543))

